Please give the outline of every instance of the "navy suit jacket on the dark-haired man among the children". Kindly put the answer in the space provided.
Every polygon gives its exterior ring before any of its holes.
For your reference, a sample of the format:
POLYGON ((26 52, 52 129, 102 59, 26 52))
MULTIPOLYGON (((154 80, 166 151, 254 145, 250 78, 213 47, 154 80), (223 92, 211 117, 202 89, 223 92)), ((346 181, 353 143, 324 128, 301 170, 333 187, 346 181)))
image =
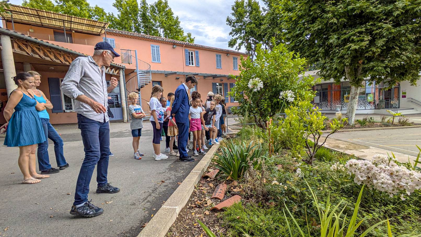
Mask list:
POLYGON ((176 115, 176 122, 189 123, 190 102, 186 88, 183 84, 176 89, 175 99, 171 113, 176 115))

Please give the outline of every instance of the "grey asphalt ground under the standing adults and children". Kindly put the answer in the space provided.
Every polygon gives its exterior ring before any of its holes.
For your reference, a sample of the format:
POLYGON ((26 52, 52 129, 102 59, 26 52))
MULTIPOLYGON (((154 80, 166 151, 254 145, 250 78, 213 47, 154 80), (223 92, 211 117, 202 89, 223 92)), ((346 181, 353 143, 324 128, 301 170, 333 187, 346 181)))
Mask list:
MULTIPOLYGON (((110 148, 115 156, 109 158, 108 181, 120 192, 96 194, 94 170, 88 199, 104 208, 104 213, 77 218, 69 210, 84 158, 80 130, 75 124, 54 127, 64 140, 64 156, 70 167, 39 184, 21 184, 19 148, 4 146, 4 135, 0 136, 0 237, 136 237, 198 162, 179 162, 175 156, 155 161, 149 121, 144 121, 140 141, 145 156, 134 160, 130 124, 112 122, 110 148)), ((53 148, 50 141, 50 162, 57 168, 53 148)), ((162 153, 164 148, 165 137, 162 153)))

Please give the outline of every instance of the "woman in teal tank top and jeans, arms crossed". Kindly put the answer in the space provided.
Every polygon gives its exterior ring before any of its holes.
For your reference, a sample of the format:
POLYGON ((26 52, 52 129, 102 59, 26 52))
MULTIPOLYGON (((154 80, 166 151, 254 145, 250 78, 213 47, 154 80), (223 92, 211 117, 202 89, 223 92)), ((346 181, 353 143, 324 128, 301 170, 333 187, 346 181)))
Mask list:
POLYGON ((50 123, 50 115, 48 115, 47 109, 53 109, 53 104, 45 97, 45 94, 38 90, 37 87, 41 84, 41 75, 35 71, 29 71, 35 79, 35 86, 31 89, 31 92, 34 94, 35 99, 39 103, 45 103, 45 109, 38 111, 40 116, 41 123, 43 124, 45 141, 38 144, 37 157, 38 157, 38 168, 41 171, 41 174, 52 174, 57 173, 60 170, 64 170, 69 167, 69 164, 66 162, 63 153, 63 139, 61 139, 59 133, 54 129, 53 125, 50 123), (56 154, 56 162, 59 169, 52 168, 50 164, 50 157, 48 155, 48 138, 54 142, 54 153, 56 154))

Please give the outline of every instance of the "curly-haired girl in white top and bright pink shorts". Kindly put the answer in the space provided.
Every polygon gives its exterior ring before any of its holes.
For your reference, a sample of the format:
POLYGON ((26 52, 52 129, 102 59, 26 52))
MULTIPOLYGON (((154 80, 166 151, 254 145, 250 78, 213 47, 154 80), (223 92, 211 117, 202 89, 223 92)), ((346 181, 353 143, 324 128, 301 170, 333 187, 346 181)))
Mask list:
POLYGON ((203 120, 203 109, 200 105, 200 93, 197 91, 193 91, 192 93, 192 106, 190 106, 190 113, 189 113, 189 120, 190 120, 190 131, 193 132, 193 148, 196 148, 196 144, 198 148, 193 151, 194 156, 198 156, 199 154, 204 155, 206 154, 205 151, 202 149, 202 142, 201 134, 202 134, 202 125, 205 127, 205 120, 203 120))

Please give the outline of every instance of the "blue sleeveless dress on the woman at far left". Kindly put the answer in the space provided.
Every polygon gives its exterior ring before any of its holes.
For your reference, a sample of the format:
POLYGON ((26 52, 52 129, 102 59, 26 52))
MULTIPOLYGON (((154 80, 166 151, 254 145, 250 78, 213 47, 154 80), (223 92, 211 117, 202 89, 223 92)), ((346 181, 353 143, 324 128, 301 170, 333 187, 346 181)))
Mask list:
POLYGON ((7 126, 6 146, 28 146, 45 141, 43 125, 35 109, 37 101, 23 94, 7 126))

